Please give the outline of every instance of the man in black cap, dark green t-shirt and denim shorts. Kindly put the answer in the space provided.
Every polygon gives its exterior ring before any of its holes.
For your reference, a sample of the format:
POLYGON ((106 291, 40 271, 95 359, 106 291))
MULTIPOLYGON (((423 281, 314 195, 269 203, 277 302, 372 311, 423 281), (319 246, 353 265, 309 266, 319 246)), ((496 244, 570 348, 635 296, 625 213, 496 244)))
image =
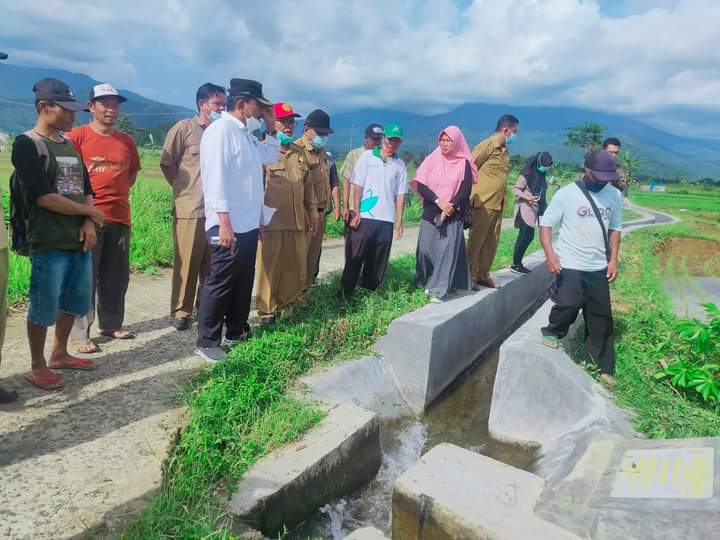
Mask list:
POLYGON ((93 205, 90 179, 74 146, 61 132, 69 131, 83 106, 70 87, 58 79, 35 83, 35 127, 15 139, 12 162, 27 209, 30 290, 27 331, 32 369, 25 378, 44 390, 63 386, 51 369, 94 369, 90 360, 71 356, 68 337, 75 317, 90 309, 90 251, 95 225, 104 221, 93 205), (55 340, 45 360, 47 328, 55 340))

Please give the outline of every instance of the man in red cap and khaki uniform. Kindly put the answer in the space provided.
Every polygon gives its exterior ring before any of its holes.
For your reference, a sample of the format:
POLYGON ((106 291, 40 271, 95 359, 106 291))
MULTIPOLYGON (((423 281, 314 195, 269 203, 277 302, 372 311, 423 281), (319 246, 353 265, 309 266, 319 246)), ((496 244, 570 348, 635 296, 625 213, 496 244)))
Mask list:
POLYGON ((265 206, 275 213, 258 245, 256 307, 260 321, 289 314, 307 284, 307 235, 317 233, 318 203, 305 149, 292 142, 297 114, 276 103, 280 160, 265 167, 265 206))

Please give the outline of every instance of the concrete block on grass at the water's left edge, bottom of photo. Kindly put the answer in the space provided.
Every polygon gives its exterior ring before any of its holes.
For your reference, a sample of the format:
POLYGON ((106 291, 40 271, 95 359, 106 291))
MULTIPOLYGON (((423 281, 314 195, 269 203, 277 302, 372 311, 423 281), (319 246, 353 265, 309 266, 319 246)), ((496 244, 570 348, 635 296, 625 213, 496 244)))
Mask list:
POLYGON ((338 405, 301 440, 258 461, 228 510, 268 536, 292 528, 320 506, 370 481, 381 463, 375 413, 338 405))

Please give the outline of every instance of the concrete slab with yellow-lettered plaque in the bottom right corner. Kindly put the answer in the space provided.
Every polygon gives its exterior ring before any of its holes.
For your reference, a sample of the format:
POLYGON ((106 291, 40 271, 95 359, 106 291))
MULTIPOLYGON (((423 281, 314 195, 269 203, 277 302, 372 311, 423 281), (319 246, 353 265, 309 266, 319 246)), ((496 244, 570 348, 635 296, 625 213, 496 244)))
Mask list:
POLYGON ((719 467, 720 438, 596 440, 536 513, 593 539, 714 538, 719 467))

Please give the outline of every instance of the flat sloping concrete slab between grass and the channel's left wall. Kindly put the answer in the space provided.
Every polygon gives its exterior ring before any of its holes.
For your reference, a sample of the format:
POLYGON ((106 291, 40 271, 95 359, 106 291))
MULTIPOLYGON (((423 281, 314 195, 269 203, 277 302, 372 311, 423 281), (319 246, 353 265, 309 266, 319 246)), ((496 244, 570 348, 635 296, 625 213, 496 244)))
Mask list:
POLYGON ((300 383, 309 391, 312 399, 362 407, 384 418, 412 414, 385 363, 377 356, 352 360, 311 373, 302 377, 300 383))

